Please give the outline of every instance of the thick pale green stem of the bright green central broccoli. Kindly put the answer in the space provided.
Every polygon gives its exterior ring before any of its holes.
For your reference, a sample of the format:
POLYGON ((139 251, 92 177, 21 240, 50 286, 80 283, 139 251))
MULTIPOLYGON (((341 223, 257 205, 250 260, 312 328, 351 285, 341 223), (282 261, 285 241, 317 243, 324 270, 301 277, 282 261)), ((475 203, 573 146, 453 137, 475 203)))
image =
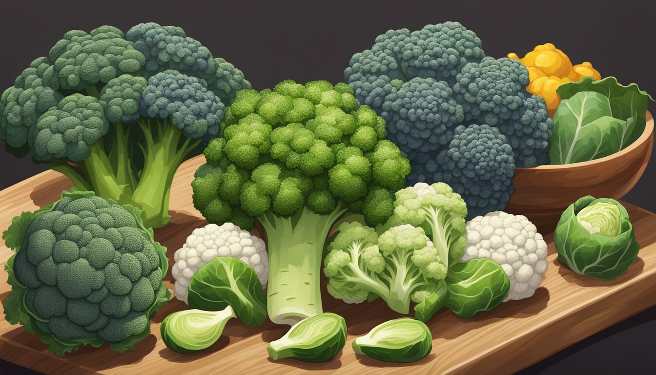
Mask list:
POLYGON ((257 217, 268 242, 267 310, 272 322, 293 326, 323 312, 319 288, 323 242, 345 211, 339 205, 327 215, 303 208, 291 217, 270 211, 257 217))

